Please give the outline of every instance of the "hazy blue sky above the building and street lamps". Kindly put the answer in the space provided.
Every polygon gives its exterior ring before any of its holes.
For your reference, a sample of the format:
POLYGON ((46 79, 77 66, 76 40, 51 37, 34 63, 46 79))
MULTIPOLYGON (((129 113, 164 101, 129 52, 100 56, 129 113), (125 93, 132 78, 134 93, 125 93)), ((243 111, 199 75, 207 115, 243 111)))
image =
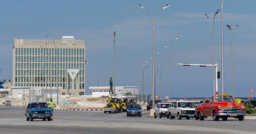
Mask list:
MULTIPOLYGON (((221 0, 222 1, 222 0, 221 0)), ((221 9, 218 0, 24 0, 2 1, 0 5, 0 79, 12 79, 13 40, 59 40, 75 36, 85 40, 86 94, 89 86, 109 86, 114 77, 116 86, 139 86, 151 93, 152 25, 156 14, 155 89, 156 95, 168 96, 168 55, 170 53, 170 93, 172 97, 210 97, 213 95, 212 67, 181 66, 179 63, 212 64, 212 32, 214 12, 221 9), (150 12, 137 5, 146 7, 150 12), (113 32, 116 32, 114 37, 113 32), (179 36, 177 40, 173 40, 179 36), (115 43, 114 43, 115 41, 115 43), (171 49, 164 46, 171 45, 171 49), (143 73, 147 61, 148 68, 143 73), (159 73, 160 72, 160 73, 159 73), (144 75, 143 75, 144 74, 144 75), (159 75, 160 74, 160 75, 159 75), (159 86, 160 85, 160 86, 159 86), (147 87, 147 89, 146 89, 147 87)), ((256 1, 225 0, 223 7, 223 72, 224 92, 232 95, 232 56, 234 96, 247 97, 255 89, 256 68, 256 1), (240 26, 235 30, 231 27, 240 26), (233 40, 232 40, 233 33, 233 40), (233 41, 233 42, 232 42, 233 41)), ((214 19, 214 64, 221 70, 221 11, 214 19)), ((218 79, 221 91, 221 79, 218 79)))

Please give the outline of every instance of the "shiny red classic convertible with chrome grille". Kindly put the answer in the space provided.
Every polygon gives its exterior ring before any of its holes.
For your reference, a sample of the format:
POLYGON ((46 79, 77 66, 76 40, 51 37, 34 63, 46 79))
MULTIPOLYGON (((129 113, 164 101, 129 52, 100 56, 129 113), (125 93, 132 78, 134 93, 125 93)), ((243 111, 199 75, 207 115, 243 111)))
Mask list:
POLYGON ((213 96, 212 101, 196 107, 195 116, 199 120, 204 120, 205 117, 213 117, 213 120, 227 120, 228 117, 243 120, 245 106, 236 104, 231 96, 213 96))

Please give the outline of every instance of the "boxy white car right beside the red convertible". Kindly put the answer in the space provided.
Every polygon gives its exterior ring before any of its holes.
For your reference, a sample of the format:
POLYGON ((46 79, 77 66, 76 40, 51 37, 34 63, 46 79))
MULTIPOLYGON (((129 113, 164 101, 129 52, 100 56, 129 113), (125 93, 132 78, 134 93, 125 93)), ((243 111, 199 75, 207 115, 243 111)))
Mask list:
MULTIPOLYGON (((170 119, 195 118, 195 103, 191 101, 174 101, 171 107, 168 108, 170 119)), ((197 119, 197 118, 196 118, 197 119)))

